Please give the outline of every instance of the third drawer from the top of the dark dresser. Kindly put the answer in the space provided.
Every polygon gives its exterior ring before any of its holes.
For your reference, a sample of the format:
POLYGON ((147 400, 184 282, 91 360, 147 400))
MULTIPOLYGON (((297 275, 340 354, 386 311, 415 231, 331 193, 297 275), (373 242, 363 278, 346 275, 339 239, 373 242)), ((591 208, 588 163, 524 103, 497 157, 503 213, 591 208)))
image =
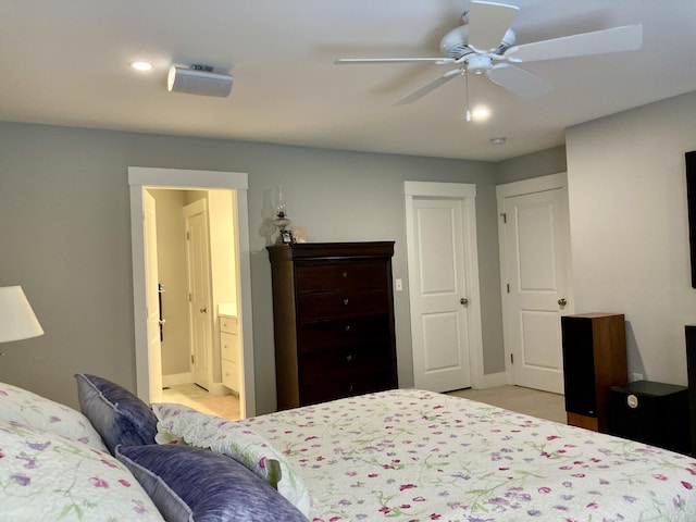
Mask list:
POLYGON ((303 352, 322 350, 325 347, 340 347, 370 343, 388 341, 389 315, 353 315, 339 320, 306 321, 299 325, 299 346, 303 352))

